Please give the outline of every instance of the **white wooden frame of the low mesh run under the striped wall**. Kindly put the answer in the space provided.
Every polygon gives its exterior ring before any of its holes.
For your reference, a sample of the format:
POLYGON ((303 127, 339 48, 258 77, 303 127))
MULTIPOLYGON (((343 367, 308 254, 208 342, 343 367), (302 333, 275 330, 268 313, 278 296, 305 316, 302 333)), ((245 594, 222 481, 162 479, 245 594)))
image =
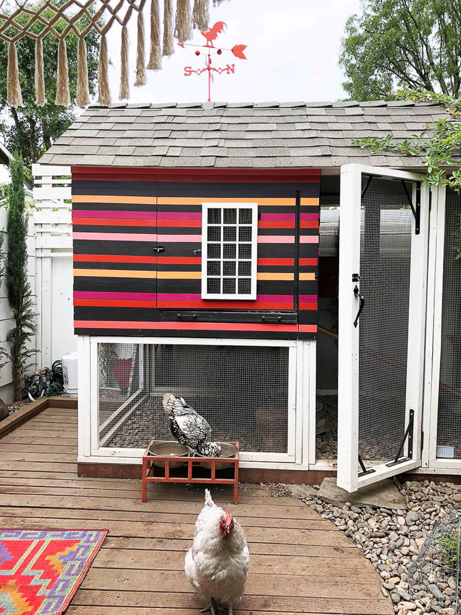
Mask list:
MULTIPOLYGON (((286 453, 245 453, 242 467, 307 469, 309 421, 315 423, 315 341, 278 339, 138 338, 79 336, 79 462, 140 464, 143 449, 106 448, 99 445, 98 428, 98 343, 200 344, 230 346, 288 347, 288 449, 286 453), (312 371, 313 369, 313 371, 312 371), (309 412, 311 414, 309 414, 309 412), (295 465, 296 464, 296 465, 295 465)), ((313 429, 315 434, 315 426, 313 429)))

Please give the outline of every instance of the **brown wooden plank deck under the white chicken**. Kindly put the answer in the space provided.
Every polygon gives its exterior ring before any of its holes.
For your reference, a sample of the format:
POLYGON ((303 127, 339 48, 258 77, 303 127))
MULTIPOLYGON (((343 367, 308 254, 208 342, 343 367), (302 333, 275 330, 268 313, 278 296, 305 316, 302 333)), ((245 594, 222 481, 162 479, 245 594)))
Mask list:
MULTIPOLYGON (((75 410, 47 408, 0 440, 0 526, 108 529, 72 615, 190 615, 204 605, 183 571, 203 489, 77 477, 75 410), (152 611, 154 609, 154 611, 152 611)), ((230 488, 215 488, 230 504, 230 488)), ((236 614, 392 615, 380 578, 344 534, 291 498, 242 488, 250 575, 236 614)))

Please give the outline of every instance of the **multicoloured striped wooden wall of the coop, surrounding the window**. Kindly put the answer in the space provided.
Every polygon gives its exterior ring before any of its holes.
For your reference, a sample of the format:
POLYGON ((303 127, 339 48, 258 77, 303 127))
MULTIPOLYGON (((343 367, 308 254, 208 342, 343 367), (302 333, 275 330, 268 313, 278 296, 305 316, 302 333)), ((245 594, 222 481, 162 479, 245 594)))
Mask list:
POLYGON ((319 179, 108 181, 102 169, 73 169, 76 333, 313 338, 319 179), (202 203, 250 200, 258 203, 256 300, 202 300, 202 203))

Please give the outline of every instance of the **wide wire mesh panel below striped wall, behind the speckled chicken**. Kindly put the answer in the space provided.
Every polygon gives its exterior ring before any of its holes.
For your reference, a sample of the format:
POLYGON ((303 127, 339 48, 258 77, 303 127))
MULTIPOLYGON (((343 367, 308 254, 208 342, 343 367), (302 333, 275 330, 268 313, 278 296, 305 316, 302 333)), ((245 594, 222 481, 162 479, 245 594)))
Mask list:
POLYGON ((243 451, 288 450, 288 347, 98 344, 100 446, 171 440, 164 393, 184 397, 211 438, 243 451))

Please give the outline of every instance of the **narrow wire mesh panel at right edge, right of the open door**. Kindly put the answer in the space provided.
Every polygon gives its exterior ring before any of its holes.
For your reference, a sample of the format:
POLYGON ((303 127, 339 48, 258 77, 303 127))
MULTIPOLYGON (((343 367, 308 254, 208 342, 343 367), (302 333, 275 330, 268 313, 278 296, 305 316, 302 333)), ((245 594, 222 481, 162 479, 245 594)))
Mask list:
POLYGON ((437 456, 461 458, 461 196, 446 192, 437 456))

